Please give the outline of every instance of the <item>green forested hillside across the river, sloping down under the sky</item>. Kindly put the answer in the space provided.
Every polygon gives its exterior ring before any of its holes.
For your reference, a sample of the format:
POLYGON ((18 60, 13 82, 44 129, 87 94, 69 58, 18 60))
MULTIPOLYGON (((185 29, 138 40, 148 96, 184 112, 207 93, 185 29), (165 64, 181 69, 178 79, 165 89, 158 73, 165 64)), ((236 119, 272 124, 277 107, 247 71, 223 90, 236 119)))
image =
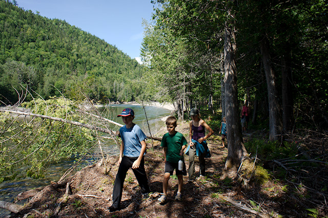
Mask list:
MULTIPOLYGON (((115 33, 112 33, 115 34, 115 33)), ((0 100, 13 104, 20 84, 47 99, 108 102, 140 95, 144 67, 115 46, 65 20, 48 19, 0 1, 0 100)), ((29 100, 29 99, 27 99, 29 100)))

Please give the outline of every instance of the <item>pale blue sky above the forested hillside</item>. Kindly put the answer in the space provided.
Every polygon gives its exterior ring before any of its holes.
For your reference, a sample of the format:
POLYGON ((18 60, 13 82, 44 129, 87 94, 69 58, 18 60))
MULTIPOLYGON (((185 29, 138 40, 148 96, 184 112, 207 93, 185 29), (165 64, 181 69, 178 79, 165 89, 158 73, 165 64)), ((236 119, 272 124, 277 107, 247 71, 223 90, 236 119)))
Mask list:
POLYGON ((151 0, 17 0, 18 7, 65 20, 140 61, 142 19, 151 20, 151 0))

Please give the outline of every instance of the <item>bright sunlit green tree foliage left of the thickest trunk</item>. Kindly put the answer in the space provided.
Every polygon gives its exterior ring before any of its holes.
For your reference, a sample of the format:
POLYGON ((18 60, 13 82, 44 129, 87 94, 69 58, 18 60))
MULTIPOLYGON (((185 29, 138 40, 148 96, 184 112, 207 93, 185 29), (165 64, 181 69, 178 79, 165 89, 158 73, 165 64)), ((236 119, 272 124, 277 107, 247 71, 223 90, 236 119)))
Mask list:
MULTIPOLYGON (((145 24, 146 34, 141 49, 141 57, 148 63, 152 74, 152 77, 146 80, 156 78, 159 87, 156 92, 159 95, 168 94, 170 99, 177 101, 178 104, 183 99, 187 102, 200 103, 209 95, 218 99, 220 97, 218 59, 212 58, 211 54, 220 50, 220 47, 217 47, 217 41, 220 40, 218 37, 207 40, 206 37, 211 35, 211 31, 204 33, 203 29, 196 29, 196 27, 183 29, 186 27, 183 22, 196 20, 198 16, 210 18, 213 15, 207 11, 198 13, 197 9, 203 6, 200 2, 188 4, 182 1, 158 2, 162 4, 162 10, 156 10, 154 25, 145 24), (193 37, 190 37, 191 35, 193 37), (205 40, 207 42, 204 42, 205 40)), ((196 26, 203 25, 199 20, 196 26)), ((214 23, 211 24, 217 26, 214 23)))

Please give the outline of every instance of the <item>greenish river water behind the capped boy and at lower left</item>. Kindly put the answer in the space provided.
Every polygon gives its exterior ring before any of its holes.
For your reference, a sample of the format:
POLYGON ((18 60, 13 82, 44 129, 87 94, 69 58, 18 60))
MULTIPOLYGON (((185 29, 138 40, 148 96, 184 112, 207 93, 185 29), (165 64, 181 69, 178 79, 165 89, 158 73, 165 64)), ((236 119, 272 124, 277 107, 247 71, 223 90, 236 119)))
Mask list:
MULTIPOLYGON (((135 114, 135 119, 133 122, 138 124, 144 133, 149 136, 153 136, 159 131, 160 128, 165 127, 165 119, 171 114, 170 110, 161 107, 148 106, 142 107, 140 105, 129 105, 129 104, 114 104, 107 105, 110 110, 105 110, 106 108, 98 108, 99 112, 104 112, 103 116, 107 119, 115 121, 120 124, 124 124, 118 114, 124 110, 126 107, 132 108, 135 114), (145 108, 145 109, 144 109, 145 108), (105 111, 107 111, 105 113, 105 111), (146 115, 145 115, 146 111, 146 115), (148 122, 147 122, 148 119, 148 122), (149 127, 148 127, 149 124, 149 127), (150 130, 149 130, 150 129, 150 130)), ((112 129, 118 130, 119 126, 111 126, 112 129)), ((19 181, 6 181, 0 184, 0 201, 13 202, 14 198, 18 193, 30 190, 37 187, 42 187, 50 184, 50 181, 58 181, 64 172, 74 165, 74 160, 67 160, 61 163, 50 166, 45 172, 46 177, 43 179, 32 179, 26 178, 19 181)), ((79 168, 86 166, 87 163, 81 164, 79 168)), ((20 169, 24 170, 24 169, 20 169)), ((18 202, 18 204, 24 204, 25 202, 18 202)), ((9 215, 10 212, 5 209, 0 209, 0 217, 9 215)))

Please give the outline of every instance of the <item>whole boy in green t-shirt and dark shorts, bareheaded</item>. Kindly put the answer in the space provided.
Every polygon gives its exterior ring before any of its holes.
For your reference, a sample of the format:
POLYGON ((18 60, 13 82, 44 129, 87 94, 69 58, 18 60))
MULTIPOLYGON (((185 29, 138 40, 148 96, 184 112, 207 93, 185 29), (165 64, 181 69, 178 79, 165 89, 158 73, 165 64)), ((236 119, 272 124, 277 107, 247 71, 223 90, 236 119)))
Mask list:
POLYGON ((178 177, 178 191, 175 196, 175 200, 181 201, 181 190, 183 186, 182 170, 178 169, 178 162, 183 155, 183 150, 186 148, 187 140, 181 133, 176 132, 176 118, 168 117, 166 120, 166 126, 168 133, 166 133, 161 141, 161 146, 164 149, 164 162, 165 173, 163 178, 163 194, 158 199, 159 203, 164 203, 167 199, 167 189, 169 186, 170 176, 175 174, 178 177))

